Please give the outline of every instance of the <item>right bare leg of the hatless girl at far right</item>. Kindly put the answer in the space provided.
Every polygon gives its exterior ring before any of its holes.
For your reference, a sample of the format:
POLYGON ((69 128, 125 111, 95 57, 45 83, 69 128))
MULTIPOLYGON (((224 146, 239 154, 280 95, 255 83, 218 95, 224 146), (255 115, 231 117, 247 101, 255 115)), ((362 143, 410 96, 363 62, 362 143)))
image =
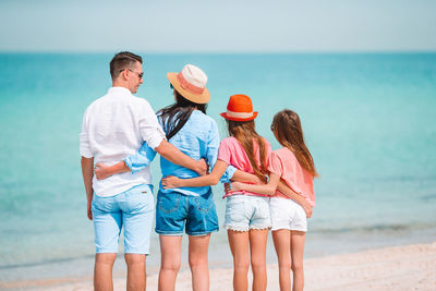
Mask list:
POLYGON ((304 288, 304 255, 305 232, 291 231, 291 257, 292 257, 292 274, 293 284, 292 291, 303 291, 304 288))

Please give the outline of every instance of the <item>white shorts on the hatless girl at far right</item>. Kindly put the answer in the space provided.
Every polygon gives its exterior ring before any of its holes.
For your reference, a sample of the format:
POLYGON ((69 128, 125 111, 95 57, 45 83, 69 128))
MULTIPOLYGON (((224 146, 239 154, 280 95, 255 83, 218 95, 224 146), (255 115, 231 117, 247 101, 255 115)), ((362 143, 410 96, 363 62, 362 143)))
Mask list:
POLYGON ((279 229, 307 231, 306 213, 300 204, 287 198, 271 197, 269 210, 271 213, 272 231, 279 229))

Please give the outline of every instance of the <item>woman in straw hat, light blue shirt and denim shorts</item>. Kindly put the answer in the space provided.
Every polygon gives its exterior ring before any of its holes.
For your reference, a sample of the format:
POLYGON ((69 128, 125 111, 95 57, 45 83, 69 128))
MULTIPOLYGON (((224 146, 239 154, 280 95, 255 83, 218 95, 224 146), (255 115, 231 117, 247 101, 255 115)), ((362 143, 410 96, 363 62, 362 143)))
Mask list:
MULTIPOLYGON (((169 143, 193 159, 204 158, 210 167, 217 161, 219 134, 215 121, 206 116, 210 98, 206 88, 207 76, 197 66, 187 64, 180 73, 168 73, 175 104, 158 111, 158 120, 169 143)), ((156 153, 144 144, 136 155, 113 166, 97 165, 98 179, 123 171, 138 171, 147 167, 156 153)), ((181 179, 198 177, 192 170, 160 158, 162 175, 181 179)), ((229 167, 222 172, 229 178, 253 181, 250 174, 229 167)), ((221 175, 222 175, 221 174, 221 175)), ((221 177, 220 177, 221 178, 221 177)), ((210 186, 164 189, 156 204, 156 229, 159 234, 161 264, 159 290, 174 290, 181 265, 183 230, 189 234, 189 264, 194 290, 208 290, 208 245, 210 233, 218 231, 218 217, 210 186)))

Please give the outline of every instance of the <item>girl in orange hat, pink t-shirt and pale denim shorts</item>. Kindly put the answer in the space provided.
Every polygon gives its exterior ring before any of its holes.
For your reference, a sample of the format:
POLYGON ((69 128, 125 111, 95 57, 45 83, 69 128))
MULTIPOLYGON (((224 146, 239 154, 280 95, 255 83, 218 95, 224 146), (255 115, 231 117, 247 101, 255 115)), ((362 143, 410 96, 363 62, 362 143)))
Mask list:
MULTIPOLYGON (((210 174, 194 179, 168 177, 164 187, 204 186, 217 184, 229 165, 252 173, 258 182, 266 182, 269 173, 269 142, 257 134, 252 100, 246 95, 233 95, 227 106, 226 119, 230 137, 221 141, 218 160, 210 174)), ((266 290, 266 243, 271 227, 268 194, 253 191, 230 191, 225 195, 226 221, 230 250, 233 256, 233 288, 247 290, 250 264, 253 290, 266 290)))

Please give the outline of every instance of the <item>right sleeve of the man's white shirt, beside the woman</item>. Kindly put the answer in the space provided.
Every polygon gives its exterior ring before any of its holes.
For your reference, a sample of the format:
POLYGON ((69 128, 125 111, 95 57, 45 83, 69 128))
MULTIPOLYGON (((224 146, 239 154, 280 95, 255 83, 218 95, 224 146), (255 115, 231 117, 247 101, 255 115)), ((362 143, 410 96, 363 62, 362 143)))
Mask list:
POLYGON ((146 100, 142 102, 142 110, 138 121, 143 140, 148 144, 149 147, 155 149, 166 137, 165 132, 157 120, 155 111, 146 100))

